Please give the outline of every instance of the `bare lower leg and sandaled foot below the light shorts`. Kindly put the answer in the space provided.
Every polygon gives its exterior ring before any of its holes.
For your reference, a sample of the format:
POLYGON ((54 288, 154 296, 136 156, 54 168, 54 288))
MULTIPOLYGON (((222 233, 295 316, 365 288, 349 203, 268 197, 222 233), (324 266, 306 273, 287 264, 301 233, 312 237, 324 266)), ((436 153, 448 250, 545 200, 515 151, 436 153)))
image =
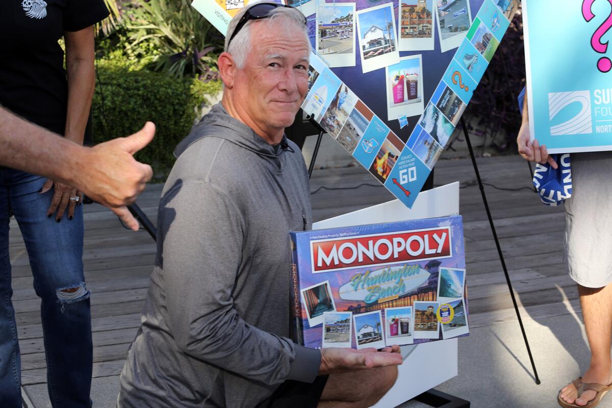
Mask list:
MULTIPOLYGON (((608 385, 612 382, 610 341, 612 337, 612 284, 592 289, 578 285, 580 306, 584 319, 586 336, 591 347, 591 366, 582 377, 583 382, 597 382, 608 385)), ((561 398, 569 404, 585 406, 595 398, 595 391, 584 391, 576 399, 577 390, 569 384, 561 390, 561 398)))

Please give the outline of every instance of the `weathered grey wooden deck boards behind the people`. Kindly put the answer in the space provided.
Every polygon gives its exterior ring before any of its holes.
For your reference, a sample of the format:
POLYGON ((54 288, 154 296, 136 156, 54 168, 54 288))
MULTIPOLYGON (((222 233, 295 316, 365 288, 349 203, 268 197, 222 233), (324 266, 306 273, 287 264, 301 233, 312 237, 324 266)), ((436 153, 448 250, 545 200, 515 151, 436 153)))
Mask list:
MULTIPOLYGON (((528 166, 519 157, 479 159, 485 182, 502 188, 530 186, 528 166)), ((436 184, 460 181, 461 215, 464 217, 471 327, 515 319, 501 264, 469 159, 442 160, 436 166, 436 184)), ((360 167, 315 172, 312 191, 321 185, 351 187, 377 184, 360 167)), ((152 220, 162 185, 149 185, 138 205, 152 220)), ((577 302, 575 284, 562 264, 563 209, 544 206, 528 189, 501 191, 487 187, 487 196, 498 227, 515 290, 526 318, 569 313, 560 302, 577 302)), ((321 190, 312 196, 315 220, 393 199, 381 187, 356 190, 321 190)), ((92 291, 94 377, 117 376, 140 322, 155 243, 147 232, 122 228, 113 213, 86 206, 84 265, 92 291)), ((32 289, 28 257, 17 224, 11 223, 10 254, 13 265, 15 306, 23 366, 23 384, 46 382, 40 302, 32 289)))

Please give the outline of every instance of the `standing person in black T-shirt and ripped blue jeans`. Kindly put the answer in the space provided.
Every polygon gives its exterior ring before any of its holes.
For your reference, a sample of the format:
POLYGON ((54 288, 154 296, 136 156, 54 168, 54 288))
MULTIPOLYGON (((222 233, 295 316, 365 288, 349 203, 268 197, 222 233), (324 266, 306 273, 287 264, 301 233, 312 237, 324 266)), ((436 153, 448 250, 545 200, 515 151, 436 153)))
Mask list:
MULTIPOLYGON (((82 144, 94 92, 94 24, 107 15, 103 0, 1 1, 0 104, 82 144)), ((83 210, 78 202, 80 193, 70 185, 0 168, 0 407, 21 407, 10 300, 11 215, 20 226, 34 289, 42 300, 51 404, 92 405, 90 292, 84 282, 83 210)))

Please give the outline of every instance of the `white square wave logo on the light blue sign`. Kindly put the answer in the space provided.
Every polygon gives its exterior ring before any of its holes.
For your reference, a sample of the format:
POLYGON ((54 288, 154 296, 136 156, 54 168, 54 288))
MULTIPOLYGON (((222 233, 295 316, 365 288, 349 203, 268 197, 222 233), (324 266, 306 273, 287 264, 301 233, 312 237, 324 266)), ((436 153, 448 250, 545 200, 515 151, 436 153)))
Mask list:
POLYGON ((591 91, 552 92, 548 94, 550 121, 553 121, 566 106, 575 102, 580 103, 580 111, 562 124, 551 126, 551 136, 588 135, 593 133, 591 91))

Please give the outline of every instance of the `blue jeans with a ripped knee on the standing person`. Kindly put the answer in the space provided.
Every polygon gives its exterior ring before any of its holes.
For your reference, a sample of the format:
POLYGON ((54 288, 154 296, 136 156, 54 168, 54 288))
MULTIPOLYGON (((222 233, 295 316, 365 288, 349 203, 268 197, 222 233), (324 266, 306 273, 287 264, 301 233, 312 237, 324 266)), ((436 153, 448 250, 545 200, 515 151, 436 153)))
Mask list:
MULTIPOLYGON (((21 359, 9 258, 9 219, 15 215, 41 300, 51 404, 89 408, 92 339, 83 275, 83 207, 76 206, 72 220, 67 213, 59 223, 54 216, 48 218, 53 189, 39 194, 44 182, 43 177, 0 167, 0 407, 21 407, 21 359)), ((32 320, 37 319, 29 316, 25 324, 32 320)))

